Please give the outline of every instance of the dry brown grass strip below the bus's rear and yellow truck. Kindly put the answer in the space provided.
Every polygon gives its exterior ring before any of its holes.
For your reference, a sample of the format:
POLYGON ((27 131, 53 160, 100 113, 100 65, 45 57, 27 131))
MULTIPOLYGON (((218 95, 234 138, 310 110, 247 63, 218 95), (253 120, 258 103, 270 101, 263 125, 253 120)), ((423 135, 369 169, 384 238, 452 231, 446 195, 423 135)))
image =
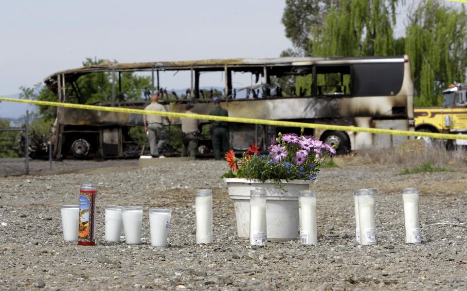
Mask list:
POLYGON ((407 168, 423 168, 430 164, 434 168, 453 170, 467 168, 467 151, 459 148, 446 150, 444 146, 426 147, 421 140, 408 140, 392 149, 359 150, 347 156, 338 157, 339 165, 394 165, 407 168))

